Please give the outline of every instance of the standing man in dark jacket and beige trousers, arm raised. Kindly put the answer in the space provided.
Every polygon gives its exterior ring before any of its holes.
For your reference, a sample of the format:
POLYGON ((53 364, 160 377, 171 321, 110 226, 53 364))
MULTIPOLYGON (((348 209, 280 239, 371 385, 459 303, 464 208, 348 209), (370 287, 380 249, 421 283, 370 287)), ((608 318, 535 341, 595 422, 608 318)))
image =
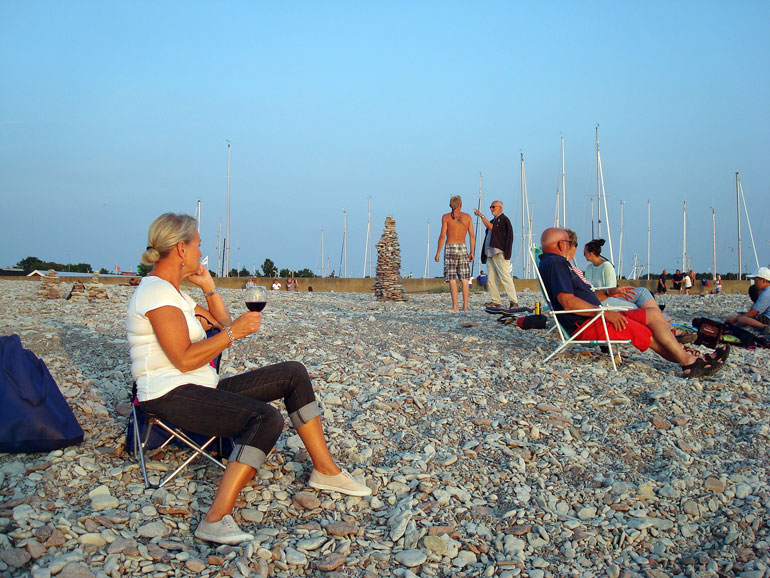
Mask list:
POLYGON ((516 286, 511 277, 511 253, 513 251, 513 226, 511 220, 503 214, 502 201, 492 201, 489 205, 492 212, 492 220, 487 219, 478 209, 473 213, 481 217, 486 227, 484 232, 484 248, 481 251, 481 262, 487 264, 488 278, 487 291, 490 302, 487 307, 500 307, 502 298, 498 283, 508 296, 508 307, 511 309, 519 306, 519 298, 516 295, 516 286))

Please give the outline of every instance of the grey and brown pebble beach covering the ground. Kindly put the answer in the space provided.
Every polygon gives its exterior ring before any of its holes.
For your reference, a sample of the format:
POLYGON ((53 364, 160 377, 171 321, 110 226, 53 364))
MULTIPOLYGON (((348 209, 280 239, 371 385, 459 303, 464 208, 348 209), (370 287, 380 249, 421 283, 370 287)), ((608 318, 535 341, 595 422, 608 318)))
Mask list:
MULTIPOLYGON (((309 488, 287 425, 236 504, 255 540, 218 546, 192 532, 219 471, 194 462, 145 490, 125 449, 133 288, 70 289, 46 299, 0 280, 0 334, 46 362, 85 431, 78 446, 0 454, 0 576, 770 576, 769 350, 733 347, 692 380, 629 347, 618 372, 586 348, 544 364, 555 337, 496 323, 485 293, 454 314, 448 294, 270 292, 260 336, 227 350, 222 374, 304 363, 332 454, 373 495, 309 488)), ((241 291, 222 294, 245 311, 241 291)), ((750 304, 660 302, 685 324, 750 304)), ((152 480, 186 455, 151 460, 152 480)))

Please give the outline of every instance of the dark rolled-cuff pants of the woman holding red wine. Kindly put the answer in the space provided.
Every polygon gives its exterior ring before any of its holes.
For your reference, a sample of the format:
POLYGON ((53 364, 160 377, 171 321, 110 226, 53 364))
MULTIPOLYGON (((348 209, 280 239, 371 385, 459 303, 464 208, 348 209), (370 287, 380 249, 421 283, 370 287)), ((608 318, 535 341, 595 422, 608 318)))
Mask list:
POLYGON ((229 459, 258 470, 283 431, 280 410, 268 403, 281 398, 295 428, 321 415, 310 376, 296 361, 227 377, 216 388, 180 385, 141 405, 191 432, 234 438, 229 459))

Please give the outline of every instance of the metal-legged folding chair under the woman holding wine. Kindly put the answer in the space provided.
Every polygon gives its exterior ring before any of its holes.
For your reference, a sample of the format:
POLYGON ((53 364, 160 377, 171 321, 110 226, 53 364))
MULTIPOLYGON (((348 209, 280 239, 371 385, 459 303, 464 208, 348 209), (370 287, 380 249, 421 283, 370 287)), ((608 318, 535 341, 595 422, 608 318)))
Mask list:
MULTIPOLYGON (((207 337, 211 337, 216 333, 218 333, 218 330, 211 329, 208 332, 206 332, 206 335, 207 337)), ((216 359, 212 361, 212 365, 217 370, 217 372, 219 371, 219 363, 221 361, 221 357, 222 356, 220 354, 219 356, 217 356, 216 359)), ((168 482, 173 480, 177 475, 179 475, 198 456, 208 459, 211 463, 222 468, 223 470, 225 469, 225 464, 222 463, 221 460, 211 455, 209 451, 207 451, 207 449, 214 442, 219 441, 219 453, 221 455, 222 440, 220 438, 217 438, 217 436, 211 436, 210 438, 206 439, 206 436, 201 437, 198 434, 185 431, 182 428, 177 427, 172 423, 164 422, 157 415, 141 409, 141 407, 139 406, 139 401, 136 396, 136 382, 134 383, 131 391, 131 400, 132 400, 131 423, 129 424, 129 427, 133 429, 133 434, 134 434, 133 450, 134 450, 134 454, 135 455, 138 454, 139 456, 139 466, 142 470, 142 477, 144 478, 145 489, 149 489, 150 487, 162 488, 168 482), (142 422, 147 424, 146 430, 144 432, 144 436, 142 436, 141 434, 142 428, 140 426, 142 425, 142 422), (152 433, 154 431, 155 426, 157 426, 160 430, 162 430, 161 436, 167 436, 165 441, 163 441, 162 443, 159 443, 159 445, 156 445, 157 440, 152 437, 152 433), (193 438, 196 438, 198 441, 196 441, 196 439, 193 439, 193 438), (163 478, 163 480, 161 480, 161 482, 158 483, 157 486, 153 486, 152 484, 150 484, 149 477, 147 476, 147 464, 146 464, 145 456, 148 455, 147 452, 150 450, 150 446, 154 446, 152 448, 152 451, 160 451, 174 443, 176 445, 181 445, 183 447, 187 447, 191 449, 193 453, 184 462, 182 462, 176 469, 174 469, 170 474, 168 474, 165 478, 163 478)))

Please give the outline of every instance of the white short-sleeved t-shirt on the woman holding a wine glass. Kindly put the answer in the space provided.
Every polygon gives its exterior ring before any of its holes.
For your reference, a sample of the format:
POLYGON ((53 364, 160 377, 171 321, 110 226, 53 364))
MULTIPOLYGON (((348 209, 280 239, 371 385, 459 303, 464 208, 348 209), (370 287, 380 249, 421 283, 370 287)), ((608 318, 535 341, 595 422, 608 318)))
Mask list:
POLYGON ((186 293, 160 277, 144 277, 128 302, 126 332, 131 353, 131 373, 136 380, 139 401, 147 401, 166 395, 172 389, 186 383, 216 387, 219 374, 211 365, 182 373, 163 352, 147 312, 159 307, 181 309, 187 321, 190 341, 206 339, 206 332, 195 317, 195 301, 186 293))

